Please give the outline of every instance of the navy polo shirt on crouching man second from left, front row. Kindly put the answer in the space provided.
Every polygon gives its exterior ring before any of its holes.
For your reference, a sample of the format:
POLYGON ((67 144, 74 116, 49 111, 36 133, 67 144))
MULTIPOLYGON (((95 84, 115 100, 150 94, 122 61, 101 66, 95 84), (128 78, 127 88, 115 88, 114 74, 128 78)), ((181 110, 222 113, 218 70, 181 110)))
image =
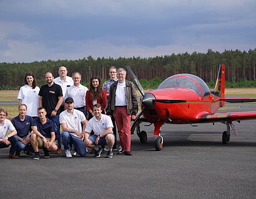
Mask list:
POLYGON ((21 121, 19 116, 16 116, 12 118, 11 122, 17 131, 17 136, 21 137, 21 139, 25 139, 29 132, 32 131, 33 119, 31 116, 25 116, 24 121, 21 121))

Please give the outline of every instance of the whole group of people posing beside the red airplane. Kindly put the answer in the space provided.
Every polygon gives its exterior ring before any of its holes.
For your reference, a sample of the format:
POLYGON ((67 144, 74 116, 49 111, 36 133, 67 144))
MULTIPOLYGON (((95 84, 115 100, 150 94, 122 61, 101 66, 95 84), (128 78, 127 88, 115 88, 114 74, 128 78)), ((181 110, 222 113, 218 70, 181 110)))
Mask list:
POLYGON ((39 88, 32 73, 26 73, 24 86, 19 90, 19 115, 6 119, 7 110, 0 108, 0 148, 9 147, 9 158, 17 159, 24 150, 34 160, 49 152, 66 157, 87 154, 106 157, 117 150, 116 125, 120 146, 117 154, 132 155, 130 151, 130 121, 138 111, 134 85, 126 80, 124 68, 111 67, 110 79, 102 85, 99 76, 93 76, 89 89, 81 85, 81 74, 67 76, 67 68, 59 68, 59 76, 45 74, 46 85, 39 88), (60 126, 62 132, 60 132, 60 126), (9 132, 9 133, 8 133, 9 132))

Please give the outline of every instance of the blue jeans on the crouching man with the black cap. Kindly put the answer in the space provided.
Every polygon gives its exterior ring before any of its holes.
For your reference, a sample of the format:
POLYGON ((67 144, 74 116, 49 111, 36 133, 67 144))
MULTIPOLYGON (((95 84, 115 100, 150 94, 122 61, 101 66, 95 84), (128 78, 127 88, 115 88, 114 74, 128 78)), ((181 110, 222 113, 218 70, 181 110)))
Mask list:
POLYGON ((76 136, 73 136, 70 132, 67 131, 63 131, 61 133, 61 139, 65 150, 70 149, 69 144, 71 143, 74 144, 77 154, 86 156, 86 146, 84 145, 84 141, 76 136))

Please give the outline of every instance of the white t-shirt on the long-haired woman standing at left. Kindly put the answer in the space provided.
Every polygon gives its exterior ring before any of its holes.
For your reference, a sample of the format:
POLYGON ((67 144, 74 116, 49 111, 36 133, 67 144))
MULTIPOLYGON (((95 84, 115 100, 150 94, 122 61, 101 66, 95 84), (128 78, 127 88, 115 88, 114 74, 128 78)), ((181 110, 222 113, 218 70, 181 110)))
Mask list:
POLYGON ((17 95, 17 99, 22 100, 22 104, 27 105, 27 115, 36 117, 37 116, 37 108, 39 108, 39 93, 40 88, 36 86, 36 88, 32 89, 29 85, 21 86, 19 89, 19 95, 17 95))

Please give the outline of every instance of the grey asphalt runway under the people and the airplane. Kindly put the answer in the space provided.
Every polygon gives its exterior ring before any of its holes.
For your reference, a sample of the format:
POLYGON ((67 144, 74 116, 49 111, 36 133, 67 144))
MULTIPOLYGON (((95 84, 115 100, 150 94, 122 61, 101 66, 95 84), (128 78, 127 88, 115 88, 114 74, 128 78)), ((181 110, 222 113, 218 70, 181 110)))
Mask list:
MULTIPOLYGON (((256 103, 227 106, 224 111, 256 110, 256 103)), ((153 127, 141 126, 147 144, 132 135, 134 155, 115 152, 112 159, 12 160, 9 149, 0 149, 1 198, 255 198, 255 122, 235 122, 240 136, 232 133, 227 145, 224 124, 166 124, 161 151, 154 149, 153 127)))

